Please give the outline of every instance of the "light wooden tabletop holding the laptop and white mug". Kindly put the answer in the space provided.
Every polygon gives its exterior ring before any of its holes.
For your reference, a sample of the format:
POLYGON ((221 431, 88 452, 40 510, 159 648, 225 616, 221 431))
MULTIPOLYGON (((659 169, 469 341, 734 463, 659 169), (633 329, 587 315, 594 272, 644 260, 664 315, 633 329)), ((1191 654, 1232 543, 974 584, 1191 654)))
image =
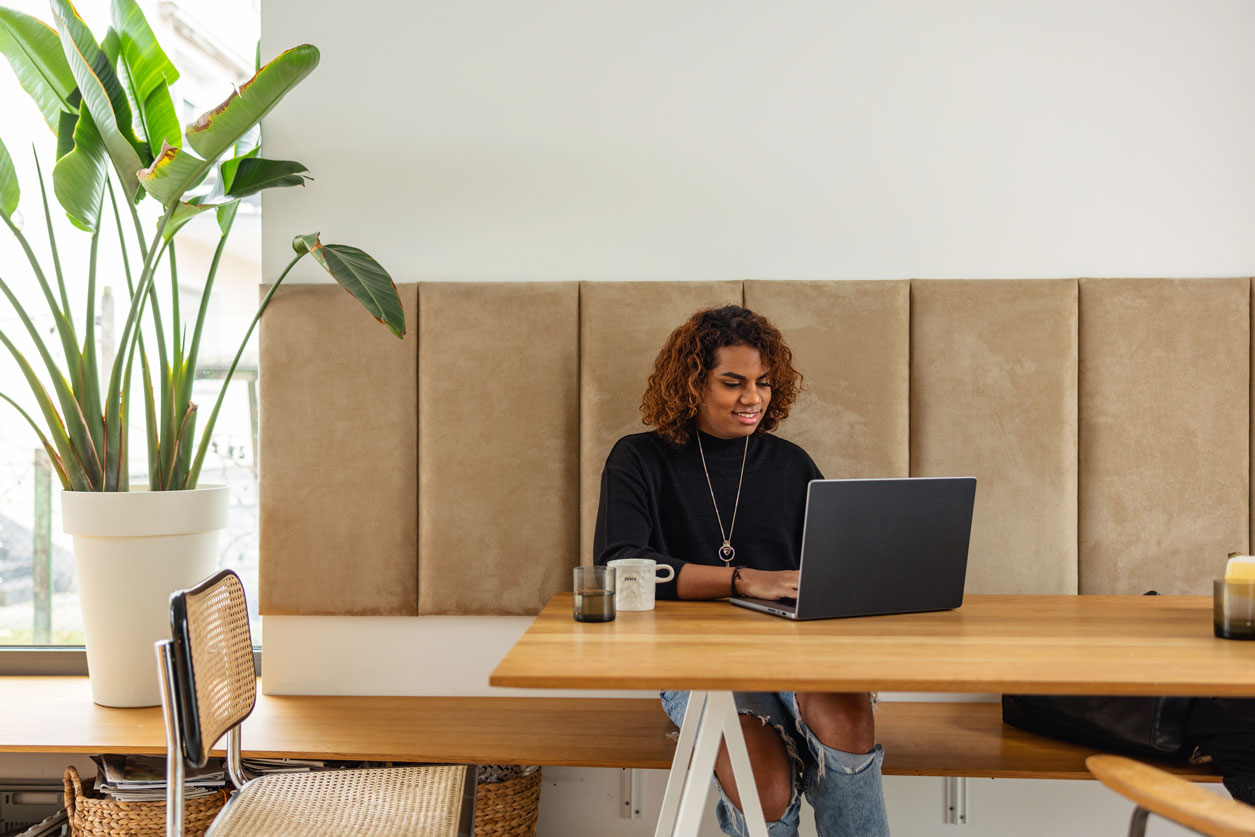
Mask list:
POLYGON ((1255 642, 1206 596, 968 596, 958 610, 793 622, 660 601, 576 622, 558 594, 488 681, 543 689, 1255 695, 1255 642))

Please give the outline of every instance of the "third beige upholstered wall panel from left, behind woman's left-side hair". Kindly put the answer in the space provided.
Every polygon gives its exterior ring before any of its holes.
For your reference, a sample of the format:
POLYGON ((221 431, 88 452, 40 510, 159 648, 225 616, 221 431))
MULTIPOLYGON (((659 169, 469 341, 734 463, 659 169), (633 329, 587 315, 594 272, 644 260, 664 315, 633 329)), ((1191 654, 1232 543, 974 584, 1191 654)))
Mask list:
POLYGON ((580 286, 580 560, 592 562, 601 469, 640 433, 640 398, 663 341, 690 314, 740 305, 742 284, 584 282, 580 286))

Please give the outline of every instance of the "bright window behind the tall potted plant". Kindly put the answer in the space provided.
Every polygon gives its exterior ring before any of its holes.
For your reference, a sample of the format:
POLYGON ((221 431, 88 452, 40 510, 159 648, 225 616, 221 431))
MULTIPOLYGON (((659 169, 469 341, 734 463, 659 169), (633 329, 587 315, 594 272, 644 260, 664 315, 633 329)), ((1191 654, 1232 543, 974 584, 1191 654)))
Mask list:
MULTIPOLYGON (((6 5, 49 20, 44 0, 8 0, 6 5)), ((172 92, 187 124, 220 103, 233 84, 254 73, 260 33, 259 0, 139 0, 149 25, 178 68, 181 78, 172 92)), ((79 3, 79 14, 93 33, 105 31, 109 4, 79 3)), ((19 215, 23 232, 30 238, 41 262, 46 262, 46 237, 39 203, 39 184, 29 149, 34 144, 51 192, 48 161, 55 138, 30 97, 18 84, 6 63, 0 61, 0 138, 4 139, 21 182, 19 215)), ((88 236, 70 227, 53 203, 58 248, 75 319, 82 324, 85 307, 88 236)), ((152 203, 151 201, 146 203, 152 203)), ((149 212, 153 207, 149 207, 149 212)), ((211 409, 222 376, 257 306, 261 276, 261 218, 256 198, 241 206, 215 281, 211 309, 200 353, 198 380, 193 400, 201 405, 202 423, 211 409)), ((125 281, 117 252, 113 217, 105 213, 100 236, 102 256, 97 280, 97 335, 102 359, 110 358, 113 341, 123 325, 128 305, 125 281)), ((152 223, 149 223, 152 230, 152 223)), ((184 311, 200 305, 203 277, 217 246, 212 213, 191 222, 178 236, 179 297, 184 311)), ((134 238, 127 225, 127 243, 134 259, 134 238)), ((168 272, 166 274, 168 276, 168 272)), ((10 285, 29 290, 34 284, 19 245, 0 227, 0 276, 10 285)), ((51 329, 51 319, 35 316, 38 295, 19 292, 40 329, 51 329), (28 300, 30 300, 28 302, 28 300)), ((20 320, 0 299, 0 330, 26 354, 20 320)), ((28 354, 28 358, 31 355, 28 354)), ((138 364, 137 364, 138 366, 138 364)), ((102 368, 107 368, 102 363, 102 368)), ((138 376, 137 376, 138 380, 138 376)), ((231 489, 228 528, 220 542, 223 567, 240 572, 256 606, 257 589, 257 349, 256 335, 246 349, 230 384, 215 428, 211 449, 201 472, 201 484, 220 483, 231 489)), ((138 389, 137 389, 138 392, 138 389)), ((33 407, 29 388, 18 365, 0 351, 0 393, 33 407)), ((134 397, 131 422, 132 481, 143 479, 143 407, 134 397)), ((46 456, 30 427, 9 404, 0 403, 0 648, 74 646, 83 642, 82 617, 74 581, 70 538, 60 531, 60 484, 51 476, 46 456)), ((260 626, 254 636, 260 637, 260 626)))

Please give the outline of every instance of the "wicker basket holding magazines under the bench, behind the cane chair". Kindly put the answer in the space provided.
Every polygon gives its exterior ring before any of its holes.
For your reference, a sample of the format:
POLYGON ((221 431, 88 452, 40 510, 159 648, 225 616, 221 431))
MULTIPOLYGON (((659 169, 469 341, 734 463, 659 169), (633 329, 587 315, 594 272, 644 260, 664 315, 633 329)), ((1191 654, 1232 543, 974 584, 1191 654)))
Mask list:
MULTIPOLYGON (((78 770, 65 768, 65 813, 74 837, 164 837, 164 802, 119 802, 83 787, 78 770)), ((227 792, 183 801, 183 833, 203 837, 227 792)), ((478 812, 477 812, 478 813, 478 812)))

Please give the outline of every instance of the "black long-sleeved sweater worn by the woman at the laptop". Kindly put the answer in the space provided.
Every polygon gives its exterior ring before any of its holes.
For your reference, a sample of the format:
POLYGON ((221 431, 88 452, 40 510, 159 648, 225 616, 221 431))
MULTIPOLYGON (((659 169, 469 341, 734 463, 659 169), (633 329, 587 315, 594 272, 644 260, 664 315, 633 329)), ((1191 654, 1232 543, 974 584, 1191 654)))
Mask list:
MULTIPOLYGON (((727 531, 745 442, 703 433, 702 447, 727 531)), ((754 570, 797 570, 806 487, 822 478, 798 445, 771 434, 752 435, 732 533, 737 550, 733 563, 754 570)), ((697 439, 675 445, 658 433, 636 433, 615 443, 601 472, 592 540, 596 563, 654 558, 669 563, 679 577, 688 562, 724 566, 718 556, 722 543, 697 439)), ((658 597, 676 599, 674 578, 658 585, 658 597)))

